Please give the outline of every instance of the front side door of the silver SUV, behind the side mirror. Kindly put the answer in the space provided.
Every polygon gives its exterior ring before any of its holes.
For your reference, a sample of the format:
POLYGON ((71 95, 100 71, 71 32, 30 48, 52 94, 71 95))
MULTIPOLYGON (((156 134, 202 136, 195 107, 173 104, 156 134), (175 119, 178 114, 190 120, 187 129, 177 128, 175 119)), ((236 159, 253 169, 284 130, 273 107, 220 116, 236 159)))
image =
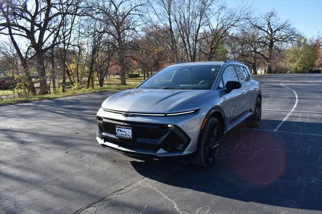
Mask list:
POLYGON ((233 65, 228 65, 225 68, 218 85, 221 106, 225 117, 228 119, 227 126, 229 126, 229 124, 237 120, 238 116, 241 114, 242 110, 240 109, 240 103, 243 101, 241 98, 241 92, 243 92, 243 90, 239 88, 227 93, 225 88, 227 81, 238 81, 237 73, 233 65))

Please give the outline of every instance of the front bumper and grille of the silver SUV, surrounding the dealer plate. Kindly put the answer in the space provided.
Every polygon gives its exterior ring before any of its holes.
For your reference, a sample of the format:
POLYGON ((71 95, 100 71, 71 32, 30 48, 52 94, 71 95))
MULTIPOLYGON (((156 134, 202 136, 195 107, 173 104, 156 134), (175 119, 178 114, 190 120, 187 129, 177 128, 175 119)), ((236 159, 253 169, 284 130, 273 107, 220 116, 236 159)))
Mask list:
POLYGON ((190 156, 196 151, 204 115, 203 111, 198 111, 173 117, 126 118, 101 109, 97 114, 96 139, 100 145, 129 156, 190 156), (131 127, 134 138, 128 140, 115 137, 115 126, 131 127))

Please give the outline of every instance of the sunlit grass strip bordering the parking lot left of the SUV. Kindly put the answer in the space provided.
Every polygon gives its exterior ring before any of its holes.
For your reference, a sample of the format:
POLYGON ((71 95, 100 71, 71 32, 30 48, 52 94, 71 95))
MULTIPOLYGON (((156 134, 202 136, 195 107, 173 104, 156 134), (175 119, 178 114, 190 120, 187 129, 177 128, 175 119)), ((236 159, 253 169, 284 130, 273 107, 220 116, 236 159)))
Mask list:
POLYGON ((0 105, 31 102, 31 101, 37 101, 37 100, 43 100, 43 99, 54 99, 54 98, 65 97, 65 96, 74 96, 74 95, 81 95, 81 94, 87 94, 87 93, 111 91, 111 90, 129 89, 129 88, 134 88, 135 86, 138 85, 138 83, 135 83, 135 84, 129 84, 129 83, 127 83, 127 85, 111 85, 111 86, 89 88, 89 89, 69 90, 69 91, 66 91, 65 93, 52 93, 52 94, 36 95, 36 96, 29 96, 29 97, 23 97, 23 98, 5 99, 5 100, 0 100, 0 105))

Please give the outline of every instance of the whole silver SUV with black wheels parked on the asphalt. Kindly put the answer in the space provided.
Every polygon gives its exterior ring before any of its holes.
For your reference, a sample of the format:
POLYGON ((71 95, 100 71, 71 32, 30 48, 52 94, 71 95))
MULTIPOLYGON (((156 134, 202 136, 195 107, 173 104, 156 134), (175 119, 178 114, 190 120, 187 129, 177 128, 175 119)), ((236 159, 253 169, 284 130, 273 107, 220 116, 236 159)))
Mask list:
POLYGON ((209 167, 225 132, 243 121, 259 125, 261 100, 259 82, 242 63, 178 63, 107 98, 96 139, 128 156, 189 157, 209 167))

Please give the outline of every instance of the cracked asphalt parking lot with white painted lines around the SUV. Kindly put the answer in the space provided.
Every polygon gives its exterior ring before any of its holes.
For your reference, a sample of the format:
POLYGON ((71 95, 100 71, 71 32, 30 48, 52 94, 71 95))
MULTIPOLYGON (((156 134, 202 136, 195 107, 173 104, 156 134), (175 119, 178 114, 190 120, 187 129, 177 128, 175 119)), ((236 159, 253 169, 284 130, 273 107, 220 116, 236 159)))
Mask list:
POLYGON ((257 79, 260 127, 229 131, 209 169, 101 147, 114 92, 1 106, 0 212, 321 213, 322 75, 257 79))

